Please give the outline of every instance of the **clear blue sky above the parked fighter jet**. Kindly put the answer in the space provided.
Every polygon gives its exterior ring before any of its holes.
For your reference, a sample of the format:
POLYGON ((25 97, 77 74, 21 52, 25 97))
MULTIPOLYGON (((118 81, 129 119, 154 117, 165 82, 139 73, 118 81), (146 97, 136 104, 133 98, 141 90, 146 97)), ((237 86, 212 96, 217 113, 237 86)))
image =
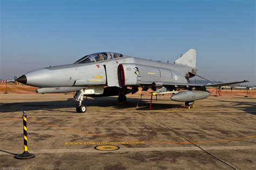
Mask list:
POLYGON ((256 84, 255 1, 0 2, 0 79, 95 52, 173 62, 195 48, 198 74, 256 84))

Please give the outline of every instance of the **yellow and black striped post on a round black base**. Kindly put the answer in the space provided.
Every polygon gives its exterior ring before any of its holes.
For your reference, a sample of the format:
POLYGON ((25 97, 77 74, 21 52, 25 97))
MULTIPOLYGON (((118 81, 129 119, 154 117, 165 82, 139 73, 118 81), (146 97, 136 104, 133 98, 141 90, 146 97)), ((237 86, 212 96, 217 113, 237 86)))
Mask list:
POLYGON ((26 111, 23 111, 23 138, 24 138, 24 152, 17 154, 17 159, 30 159, 34 158, 35 154, 28 152, 28 129, 26 128, 26 111))

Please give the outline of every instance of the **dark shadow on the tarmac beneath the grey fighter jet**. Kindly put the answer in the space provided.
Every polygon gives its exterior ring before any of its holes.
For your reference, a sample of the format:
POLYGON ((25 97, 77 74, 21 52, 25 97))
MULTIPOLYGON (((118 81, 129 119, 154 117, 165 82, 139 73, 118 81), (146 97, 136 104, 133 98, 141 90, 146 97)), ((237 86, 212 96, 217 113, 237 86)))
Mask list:
MULTIPOLYGON (((161 99, 160 99, 161 100, 161 99)), ((158 99, 159 101, 159 99, 158 99)), ((166 100, 163 100, 166 101, 166 100)), ((126 109, 134 108, 136 110, 138 98, 127 98, 126 104, 119 104, 117 102, 117 97, 100 97, 100 98, 88 98, 87 101, 83 101, 87 107, 111 107, 111 110, 115 109, 126 109)), ((170 103, 154 103, 155 99, 152 100, 152 110, 166 110, 178 108, 181 104, 170 103)), ((35 101, 35 102, 16 102, 16 103, 6 103, 1 105, 0 112, 16 112, 16 111, 30 111, 30 110, 52 110, 71 108, 69 111, 64 112, 76 112, 77 102, 69 98, 66 101, 35 101)), ((150 100, 142 98, 139 99, 139 110, 149 110, 150 100)), ((89 111, 89 109, 87 108, 89 111)), ((60 111, 60 110, 58 110, 60 111)))

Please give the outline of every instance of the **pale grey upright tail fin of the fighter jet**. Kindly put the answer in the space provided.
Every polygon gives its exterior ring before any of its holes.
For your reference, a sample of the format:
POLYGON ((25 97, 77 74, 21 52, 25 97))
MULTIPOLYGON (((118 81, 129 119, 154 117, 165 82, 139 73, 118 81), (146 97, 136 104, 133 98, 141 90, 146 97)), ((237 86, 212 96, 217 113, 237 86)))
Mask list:
POLYGON ((196 68, 197 51, 196 49, 189 49, 185 54, 181 55, 174 64, 186 65, 188 67, 196 68))

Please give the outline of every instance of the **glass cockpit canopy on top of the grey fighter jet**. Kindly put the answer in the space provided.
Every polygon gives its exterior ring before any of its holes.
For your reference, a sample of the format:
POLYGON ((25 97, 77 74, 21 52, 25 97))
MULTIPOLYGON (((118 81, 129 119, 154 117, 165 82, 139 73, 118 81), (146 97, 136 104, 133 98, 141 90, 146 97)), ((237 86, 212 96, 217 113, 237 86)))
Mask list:
POLYGON ((94 53, 84 56, 83 58, 77 60, 75 63, 92 63, 103 60, 111 60, 123 57, 123 54, 119 53, 94 53))

